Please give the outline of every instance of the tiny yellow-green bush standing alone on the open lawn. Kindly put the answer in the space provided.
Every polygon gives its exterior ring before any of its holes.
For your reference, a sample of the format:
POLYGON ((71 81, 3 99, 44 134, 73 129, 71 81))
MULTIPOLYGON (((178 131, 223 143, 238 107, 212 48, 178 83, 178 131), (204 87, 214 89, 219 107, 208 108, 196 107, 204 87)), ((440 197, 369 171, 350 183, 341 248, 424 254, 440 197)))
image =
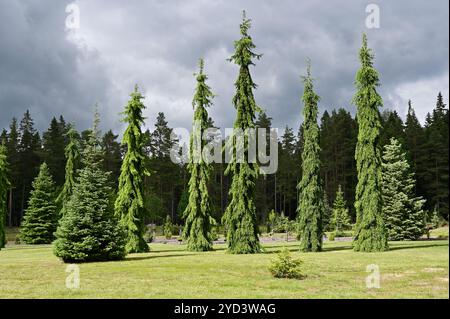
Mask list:
POLYGON ((303 279, 305 275, 301 269, 302 263, 301 259, 292 258, 290 251, 284 248, 272 260, 269 271, 275 278, 303 279))

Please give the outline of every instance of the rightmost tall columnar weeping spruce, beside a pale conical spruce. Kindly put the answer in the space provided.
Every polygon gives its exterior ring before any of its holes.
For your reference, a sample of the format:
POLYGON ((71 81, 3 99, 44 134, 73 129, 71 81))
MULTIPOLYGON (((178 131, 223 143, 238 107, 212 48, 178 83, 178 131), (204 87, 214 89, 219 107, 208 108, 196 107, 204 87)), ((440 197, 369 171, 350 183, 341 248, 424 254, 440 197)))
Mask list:
POLYGON ((384 251, 388 249, 388 242, 382 213, 381 118, 378 109, 383 101, 377 92, 380 85, 378 72, 373 67, 373 54, 367 47, 365 34, 359 59, 361 68, 356 74, 356 94, 353 97, 359 126, 355 152, 358 184, 353 248, 355 251, 384 251))

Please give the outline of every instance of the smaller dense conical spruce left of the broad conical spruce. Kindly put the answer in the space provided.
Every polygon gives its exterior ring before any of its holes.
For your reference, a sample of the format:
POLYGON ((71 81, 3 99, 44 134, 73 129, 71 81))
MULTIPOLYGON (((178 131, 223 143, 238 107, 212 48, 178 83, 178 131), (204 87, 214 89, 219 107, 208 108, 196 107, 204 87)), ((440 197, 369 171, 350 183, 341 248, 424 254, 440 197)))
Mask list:
POLYGON ((55 184, 44 162, 33 181, 33 190, 20 229, 21 240, 26 244, 51 243, 58 223, 57 217, 55 184))

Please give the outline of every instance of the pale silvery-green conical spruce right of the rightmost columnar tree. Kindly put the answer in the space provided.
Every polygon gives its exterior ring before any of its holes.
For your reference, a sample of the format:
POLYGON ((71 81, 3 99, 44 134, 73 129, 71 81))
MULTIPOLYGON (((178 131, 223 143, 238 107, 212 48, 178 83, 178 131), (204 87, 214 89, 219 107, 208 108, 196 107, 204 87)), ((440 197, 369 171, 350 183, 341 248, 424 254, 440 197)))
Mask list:
POLYGON ((414 186, 406 154, 391 138, 383 153, 383 215, 391 240, 415 240, 424 233, 425 200, 415 197, 414 186))

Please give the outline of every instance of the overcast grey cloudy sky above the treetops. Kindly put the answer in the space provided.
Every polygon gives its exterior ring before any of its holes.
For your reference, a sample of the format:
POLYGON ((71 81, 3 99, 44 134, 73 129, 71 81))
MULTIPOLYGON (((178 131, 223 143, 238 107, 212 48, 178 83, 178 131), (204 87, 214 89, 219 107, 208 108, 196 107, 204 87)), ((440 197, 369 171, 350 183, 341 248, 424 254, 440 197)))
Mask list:
POLYGON ((253 67, 257 103, 275 127, 302 120, 300 75, 312 60, 320 110, 351 104, 361 34, 368 34, 385 108, 404 116, 411 99, 423 122, 442 91, 449 95, 447 0, 79 0, 78 29, 67 29, 72 1, 1 0, 0 129, 30 109, 39 130, 63 114, 80 130, 99 103, 102 128, 123 131, 134 84, 146 96, 147 126, 163 111, 172 127, 190 127, 193 73, 205 58, 218 95, 210 115, 221 127, 235 117, 236 65, 226 61, 239 38, 241 11, 263 57, 253 67), (366 6, 378 4, 380 28, 368 29, 366 6))

